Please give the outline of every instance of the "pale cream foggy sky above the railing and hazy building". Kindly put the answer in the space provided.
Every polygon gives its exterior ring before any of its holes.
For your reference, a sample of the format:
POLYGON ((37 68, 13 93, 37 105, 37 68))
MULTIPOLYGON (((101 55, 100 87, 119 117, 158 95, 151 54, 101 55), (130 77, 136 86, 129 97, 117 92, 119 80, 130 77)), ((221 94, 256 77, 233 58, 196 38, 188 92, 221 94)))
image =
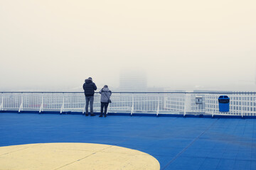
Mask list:
MULTIPOLYGON (((255 85, 256 2, 0 0, 0 91, 255 85)), ((225 89, 226 90, 226 89, 225 89)))

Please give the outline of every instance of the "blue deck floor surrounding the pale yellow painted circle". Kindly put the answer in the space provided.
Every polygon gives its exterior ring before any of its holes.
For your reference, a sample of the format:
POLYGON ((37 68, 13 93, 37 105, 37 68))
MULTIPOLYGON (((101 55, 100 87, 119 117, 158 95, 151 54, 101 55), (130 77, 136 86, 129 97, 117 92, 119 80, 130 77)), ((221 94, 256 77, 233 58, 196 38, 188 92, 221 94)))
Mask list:
POLYGON ((161 169, 256 169, 255 119, 0 113, 0 137, 0 147, 50 142, 127 147, 151 154, 161 169))

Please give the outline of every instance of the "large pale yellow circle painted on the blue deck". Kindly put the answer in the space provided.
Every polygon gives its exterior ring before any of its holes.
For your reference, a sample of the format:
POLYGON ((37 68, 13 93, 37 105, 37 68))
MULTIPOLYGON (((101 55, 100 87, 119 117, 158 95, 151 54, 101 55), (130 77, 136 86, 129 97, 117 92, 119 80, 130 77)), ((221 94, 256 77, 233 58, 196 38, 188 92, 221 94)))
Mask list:
POLYGON ((0 169, 159 170, 149 154, 125 147, 90 143, 42 143, 0 147, 0 169))

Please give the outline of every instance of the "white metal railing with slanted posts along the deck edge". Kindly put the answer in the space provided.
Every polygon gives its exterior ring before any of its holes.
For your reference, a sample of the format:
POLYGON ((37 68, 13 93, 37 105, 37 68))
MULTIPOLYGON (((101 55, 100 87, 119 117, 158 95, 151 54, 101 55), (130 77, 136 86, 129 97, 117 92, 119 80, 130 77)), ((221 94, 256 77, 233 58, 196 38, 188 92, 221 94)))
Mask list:
MULTIPOLYGON (((58 111, 85 113, 81 92, 1 92, 0 111, 58 111)), ((116 92, 109 113, 256 116, 256 92, 116 92), (220 112, 218 97, 230 98, 230 111, 220 112), (197 103, 196 98, 201 98, 197 103)), ((100 112, 95 93, 94 111, 100 112)))

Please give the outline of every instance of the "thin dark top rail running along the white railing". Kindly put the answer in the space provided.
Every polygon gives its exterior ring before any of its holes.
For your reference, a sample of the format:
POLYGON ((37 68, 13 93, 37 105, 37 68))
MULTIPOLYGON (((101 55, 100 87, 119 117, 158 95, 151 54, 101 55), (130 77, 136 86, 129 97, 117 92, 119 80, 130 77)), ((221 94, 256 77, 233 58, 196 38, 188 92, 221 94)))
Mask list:
MULTIPOLYGON (((83 94, 82 91, 0 91, 1 94, 83 94)), ((95 92, 98 94, 99 92, 95 92)), ((256 94, 256 91, 141 91, 141 92, 121 92, 112 91, 113 94, 256 94)))

